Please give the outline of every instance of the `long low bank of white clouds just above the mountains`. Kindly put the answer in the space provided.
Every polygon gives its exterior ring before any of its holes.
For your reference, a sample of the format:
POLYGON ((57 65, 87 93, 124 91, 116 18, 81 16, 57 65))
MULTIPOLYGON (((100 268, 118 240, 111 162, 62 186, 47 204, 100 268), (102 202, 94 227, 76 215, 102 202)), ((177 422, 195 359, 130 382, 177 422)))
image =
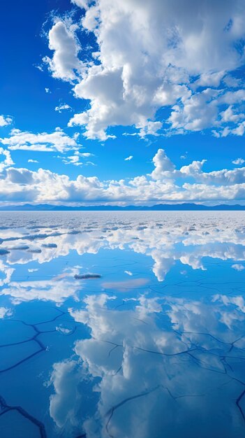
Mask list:
MULTIPOLYGON (((65 157, 66 164, 79 165, 90 153, 65 157)), ((30 171, 7 167, 0 179, 1 201, 16 202, 184 202, 243 199, 245 167, 205 172, 206 160, 193 161, 177 169, 165 150, 153 157, 154 170, 146 176, 119 181, 101 181, 80 174, 76 179, 45 169, 30 171)), ((83 162, 82 162, 83 163, 83 162)), ((91 162, 84 162, 91 164, 91 162)))

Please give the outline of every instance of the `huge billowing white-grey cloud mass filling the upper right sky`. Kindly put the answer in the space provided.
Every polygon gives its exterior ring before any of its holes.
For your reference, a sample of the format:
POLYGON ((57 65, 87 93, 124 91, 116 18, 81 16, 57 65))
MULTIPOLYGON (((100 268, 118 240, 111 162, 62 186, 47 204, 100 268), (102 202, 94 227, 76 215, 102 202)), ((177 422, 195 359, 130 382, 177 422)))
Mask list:
POLYGON ((242 0, 71 3, 84 11, 82 20, 57 19, 49 33, 54 56, 45 58, 54 77, 73 81, 75 97, 90 102, 69 126, 101 141, 116 125, 134 125, 142 138, 211 127, 216 136, 244 134, 244 90, 228 91, 239 87, 232 71, 244 63, 242 0), (78 30, 96 39, 89 60, 78 30), (156 117, 161 107, 172 108, 165 120, 156 117))

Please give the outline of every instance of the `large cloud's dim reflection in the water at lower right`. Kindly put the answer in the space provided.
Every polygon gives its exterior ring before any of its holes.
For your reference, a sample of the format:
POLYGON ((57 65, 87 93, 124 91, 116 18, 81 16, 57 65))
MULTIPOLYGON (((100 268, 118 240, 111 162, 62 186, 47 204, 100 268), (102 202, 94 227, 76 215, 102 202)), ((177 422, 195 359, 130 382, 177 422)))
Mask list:
MULTIPOLYGON (((134 297, 129 309, 124 307, 121 311, 109 311, 110 299, 113 297, 105 294, 90 295, 84 298, 81 310, 69 310, 75 321, 89 328, 90 337, 76 341, 77 357, 73 355, 69 361, 60 362, 59 367, 54 365, 52 400, 57 400, 59 406, 57 416, 53 416, 57 425, 60 418, 64 421, 72 413, 73 424, 76 419, 79 419, 80 424, 82 421, 82 430, 89 438, 101 437, 105 435, 105 430, 111 436, 145 438, 152 435, 152 430, 156 436, 161 436, 162 430, 168 429, 169 418, 173 418, 171 413, 176 414, 178 410, 180 426, 175 428, 175 436, 179 436, 183 432, 182 425, 186 418, 190 421, 193 418, 193 398, 198 411, 202 414, 205 412, 205 416, 217 416, 220 403, 216 407, 214 393, 221 385, 223 365, 213 355, 207 354, 207 351, 224 348, 225 352, 227 344, 231 342, 231 327, 235 331, 235 339, 240 339, 244 324, 244 299, 241 296, 227 297, 217 294, 203 302, 197 298, 194 300, 168 295, 159 298, 142 293, 134 297), (168 324, 161 329, 157 323, 158 313, 164 313, 168 320, 168 324), (205 336, 207 325, 211 336, 205 336), (220 327, 223 330, 221 341, 218 337, 220 327), (196 346, 194 349, 193 344, 196 346), (198 358, 195 363, 185 359, 186 350, 189 349, 192 349, 193 357, 198 358), (154 360, 149 352, 156 353, 154 360), (209 391, 207 382, 201 378, 203 367, 197 365, 201 360, 205 362, 205 372, 208 373, 211 388, 209 391), (77 382, 78 365, 81 369, 80 385, 77 382), (82 407, 86 400, 91 400, 91 392, 88 393, 85 386, 82 369, 87 372, 87 380, 93 383, 92 387, 96 388, 97 395, 94 409, 89 411, 84 421, 82 412, 75 415, 74 411, 74 402, 78 395, 85 398, 82 407), (67 400, 64 391, 66 386, 70 400, 67 400), (141 397, 146 394, 147 397, 141 397), (128 407, 126 402, 135 397, 138 397, 137 402, 132 402, 128 407), (161 415, 163 404, 165 415, 161 415), (161 411, 158 410, 159 406, 161 411), (114 414, 118 407, 120 415, 114 414), (159 418, 157 422, 156 415, 159 418)), ((228 417, 232 393, 234 388, 230 390, 229 397, 219 397, 222 409, 228 417)), ((195 435, 198 435, 200 422, 194 421, 193 427, 195 435)), ((204 428, 205 436, 209 436, 209 425, 205 423, 204 428)), ((225 428, 230 430, 229 425, 225 425, 225 428)), ((229 433, 232 435, 232 432, 229 433)))

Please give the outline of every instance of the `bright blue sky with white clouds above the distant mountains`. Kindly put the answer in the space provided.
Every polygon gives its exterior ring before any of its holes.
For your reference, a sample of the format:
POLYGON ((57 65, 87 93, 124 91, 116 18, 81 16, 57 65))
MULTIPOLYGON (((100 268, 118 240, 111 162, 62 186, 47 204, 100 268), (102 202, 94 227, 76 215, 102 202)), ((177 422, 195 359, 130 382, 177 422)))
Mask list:
POLYGON ((244 203, 244 1, 1 17, 1 204, 244 203))

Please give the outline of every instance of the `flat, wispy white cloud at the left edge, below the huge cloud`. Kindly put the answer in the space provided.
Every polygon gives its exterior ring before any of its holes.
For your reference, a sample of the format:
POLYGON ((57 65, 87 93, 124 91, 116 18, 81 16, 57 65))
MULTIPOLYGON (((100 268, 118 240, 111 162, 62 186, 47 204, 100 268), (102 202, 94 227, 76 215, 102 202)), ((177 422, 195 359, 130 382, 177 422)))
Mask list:
POLYGON ((10 136, 0 139, 0 143, 10 150, 38 150, 41 152, 58 151, 64 153, 70 149, 77 149, 77 134, 68 136, 61 128, 56 128, 51 134, 12 129, 10 136))

